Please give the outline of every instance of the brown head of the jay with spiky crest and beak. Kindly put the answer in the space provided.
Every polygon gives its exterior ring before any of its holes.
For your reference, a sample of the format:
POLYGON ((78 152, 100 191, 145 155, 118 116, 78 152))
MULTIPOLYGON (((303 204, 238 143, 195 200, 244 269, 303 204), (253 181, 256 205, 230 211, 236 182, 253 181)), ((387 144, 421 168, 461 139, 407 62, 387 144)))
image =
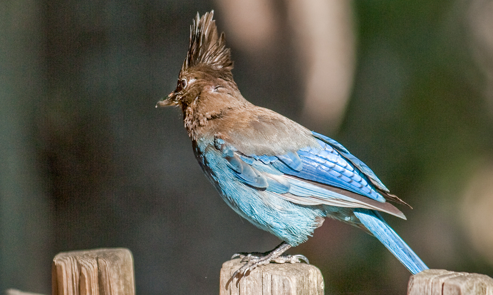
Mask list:
POLYGON ((158 101, 158 106, 188 104, 211 84, 236 84, 233 82, 233 61, 226 48, 224 32, 217 33, 214 11, 197 16, 190 26, 190 43, 187 56, 181 66, 176 90, 158 101))

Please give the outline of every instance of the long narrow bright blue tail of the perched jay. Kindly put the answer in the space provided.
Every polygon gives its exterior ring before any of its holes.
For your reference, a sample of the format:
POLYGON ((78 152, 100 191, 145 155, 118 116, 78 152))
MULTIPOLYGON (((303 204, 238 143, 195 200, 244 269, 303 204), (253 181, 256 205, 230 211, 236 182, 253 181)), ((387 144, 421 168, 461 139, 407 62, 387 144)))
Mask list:
POLYGON ((401 237, 390 228, 377 211, 355 208, 354 215, 356 215, 361 223, 413 274, 428 269, 428 266, 426 266, 401 237))

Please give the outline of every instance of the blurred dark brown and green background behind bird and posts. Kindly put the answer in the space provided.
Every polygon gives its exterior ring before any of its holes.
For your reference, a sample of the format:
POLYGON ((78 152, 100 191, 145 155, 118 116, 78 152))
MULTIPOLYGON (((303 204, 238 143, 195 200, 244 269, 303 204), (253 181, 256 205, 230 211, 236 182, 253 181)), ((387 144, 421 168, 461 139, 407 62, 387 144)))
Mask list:
MULTIPOLYGON (((242 94, 344 144, 414 209, 388 223, 430 268, 493 276, 493 1, 0 2, 0 292, 51 293, 61 251, 127 247, 137 293, 217 294, 279 240, 194 159, 173 91, 197 11, 242 94)), ((327 220, 291 249, 326 294, 405 294, 378 240, 327 220)))

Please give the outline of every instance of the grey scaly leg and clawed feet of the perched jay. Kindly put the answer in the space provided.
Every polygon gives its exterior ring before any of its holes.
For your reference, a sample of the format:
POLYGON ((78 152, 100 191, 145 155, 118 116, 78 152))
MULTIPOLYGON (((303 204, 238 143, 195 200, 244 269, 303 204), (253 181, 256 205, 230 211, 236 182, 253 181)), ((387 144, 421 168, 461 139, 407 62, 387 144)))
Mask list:
POLYGON ((279 246, 274 248, 274 250, 265 253, 259 253, 259 252, 237 253, 233 255, 231 259, 239 256, 242 259, 242 262, 246 262, 246 263, 245 265, 240 267, 240 269, 235 271, 232 278, 235 277, 237 274, 245 275, 246 272, 253 270, 255 267, 259 265, 266 265, 269 264, 270 262, 296 263, 296 262, 301 262, 300 259, 302 259, 305 262, 309 263, 308 259, 303 255, 282 255, 282 253, 286 252, 286 250, 289 248, 291 248, 291 245, 289 245, 286 242, 282 242, 279 246))

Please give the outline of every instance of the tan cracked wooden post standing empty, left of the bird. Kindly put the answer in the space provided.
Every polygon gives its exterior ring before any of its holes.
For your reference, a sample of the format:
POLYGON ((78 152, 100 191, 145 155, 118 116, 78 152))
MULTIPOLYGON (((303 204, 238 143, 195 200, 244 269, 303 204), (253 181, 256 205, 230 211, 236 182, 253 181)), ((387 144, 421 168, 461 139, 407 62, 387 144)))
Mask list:
POLYGON ((52 295, 135 295, 134 259, 124 248, 59 253, 52 295))

